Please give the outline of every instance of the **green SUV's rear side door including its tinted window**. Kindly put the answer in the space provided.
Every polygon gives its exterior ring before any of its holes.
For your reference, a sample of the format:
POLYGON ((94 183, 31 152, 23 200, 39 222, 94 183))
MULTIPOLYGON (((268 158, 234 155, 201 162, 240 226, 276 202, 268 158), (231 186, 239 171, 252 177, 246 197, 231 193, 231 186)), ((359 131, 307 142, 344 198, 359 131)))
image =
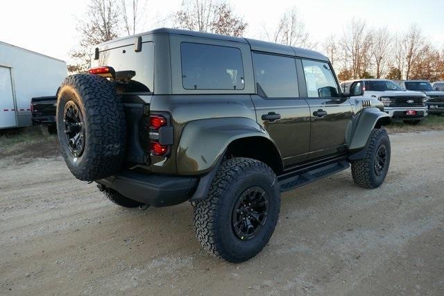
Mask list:
POLYGON ((310 114, 299 98, 296 60, 287 56, 253 53, 257 95, 253 95, 257 122, 275 141, 285 167, 307 160, 310 114))

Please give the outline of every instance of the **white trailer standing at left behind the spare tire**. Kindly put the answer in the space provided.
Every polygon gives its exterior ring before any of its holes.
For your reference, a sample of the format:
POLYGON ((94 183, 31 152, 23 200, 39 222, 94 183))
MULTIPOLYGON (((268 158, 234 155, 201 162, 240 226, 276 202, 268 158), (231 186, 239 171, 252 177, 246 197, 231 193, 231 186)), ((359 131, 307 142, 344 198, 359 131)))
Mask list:
POLYGON ((67 63, 0 42, 0 129, 31 125, 31 98, 55 96, 67 63))

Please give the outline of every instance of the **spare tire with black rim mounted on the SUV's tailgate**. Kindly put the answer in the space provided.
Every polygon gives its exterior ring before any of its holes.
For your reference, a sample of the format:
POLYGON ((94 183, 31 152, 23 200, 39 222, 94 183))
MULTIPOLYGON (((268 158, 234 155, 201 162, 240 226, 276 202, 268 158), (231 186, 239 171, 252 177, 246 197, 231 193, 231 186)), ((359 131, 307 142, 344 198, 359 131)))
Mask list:
POLYGON ((126 123, 114 84, 101 76, 75 74, 65 79, 57 98, 58 139, 71 173, 94 181, 119 171, 126 123))

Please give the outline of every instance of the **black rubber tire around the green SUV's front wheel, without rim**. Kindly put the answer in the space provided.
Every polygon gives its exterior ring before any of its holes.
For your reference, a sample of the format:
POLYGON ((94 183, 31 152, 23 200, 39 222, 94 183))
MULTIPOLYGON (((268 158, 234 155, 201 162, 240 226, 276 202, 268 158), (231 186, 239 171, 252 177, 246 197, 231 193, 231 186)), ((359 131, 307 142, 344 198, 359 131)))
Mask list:
POLYGON ((366 157, 364 159, 352 162, 352 176, 353 181, 358 186, 366 189, 374 189, 384 183, 388 172, 388 167, 390 166, 390 139, 388 139, 386 130, 382 128, 375 128, 370 133, 368 141, 366 157), (375 169, 376 153, 379 147, 382 145, 384 145, 386 148, 386 164, 384 166, 384 170, 377 175, 375 169))

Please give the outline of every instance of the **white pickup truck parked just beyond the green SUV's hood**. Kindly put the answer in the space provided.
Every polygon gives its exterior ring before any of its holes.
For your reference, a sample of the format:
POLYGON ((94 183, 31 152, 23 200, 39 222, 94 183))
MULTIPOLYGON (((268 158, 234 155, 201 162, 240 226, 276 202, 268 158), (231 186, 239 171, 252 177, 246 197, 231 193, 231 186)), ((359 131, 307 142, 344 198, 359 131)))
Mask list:
POLYGON ((422 92, 412 92, 388 79, 360 79, 341 82, 345 94, 350 93, 352 82, 355 87, 364 90, 364 97, 377 98, 384 104, 384 112, 392 119, 399 119, 404 123, 418 124, 427 116, 427 96, 422 92))

